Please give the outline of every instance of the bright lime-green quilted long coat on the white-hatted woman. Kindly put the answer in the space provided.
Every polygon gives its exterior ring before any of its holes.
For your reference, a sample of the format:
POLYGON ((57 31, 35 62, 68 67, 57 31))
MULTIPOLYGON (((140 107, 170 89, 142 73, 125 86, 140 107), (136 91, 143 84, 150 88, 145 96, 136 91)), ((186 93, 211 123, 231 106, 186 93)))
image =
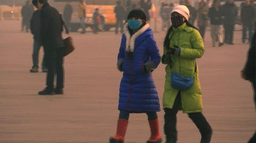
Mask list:
MULTIPOLYGON (((178 28, 173 28, 169 35, 170 46, 180 47, 180 56, 171 55, 173 61, 172 69, 169 63, 165 67, 165 91, 163 93, 163 108, 173 108, 178 89, 171 87, 171 72, 179 73, 183 77, 194 77, 194 84, 188 90, 180 91, 181 109, 183 113, 194 113, 202 111, 202 91, 198 78, 198 65, 196 58, 201 58, 204 54, 204 42, 198 30, 189 27, 186 23, 178 28), (197 67, 197 70, 195 70, 197 67), (195 72, 196 71, 196 72, 195 72)), ((164 47, 164 54, 168 49, 164 47)))

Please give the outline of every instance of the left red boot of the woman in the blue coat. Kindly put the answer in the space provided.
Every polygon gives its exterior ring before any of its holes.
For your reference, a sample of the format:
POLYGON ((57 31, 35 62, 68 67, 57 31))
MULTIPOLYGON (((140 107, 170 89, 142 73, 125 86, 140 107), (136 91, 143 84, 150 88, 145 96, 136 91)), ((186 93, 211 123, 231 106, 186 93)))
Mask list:
POLYGON ((127 126, 128 126, 128 120, 118 119, 116 135, 114 137, 109 138, 109 143, 123 143, 127 126))

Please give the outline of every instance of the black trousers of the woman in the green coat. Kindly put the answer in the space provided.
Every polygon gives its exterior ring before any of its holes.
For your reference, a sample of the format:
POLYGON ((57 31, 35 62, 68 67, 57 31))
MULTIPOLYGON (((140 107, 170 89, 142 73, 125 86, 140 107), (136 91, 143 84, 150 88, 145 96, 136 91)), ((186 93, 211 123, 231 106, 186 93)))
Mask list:
MULTIPOLYGON (((166 140, 169 142, 176 143, 177 141, 177 129, 176 129, 176 114, 178 109, 181 107, 180 92, 175 99, 173 108, 165 108, 165 125, 164 131, 166 135, 166 140)), ((202 137, 211 132, 211 126, 207 122, 206 118, 201 112, 198 113, 188 113, 188 117, 196 124, 196 127, 199 129, 202 137)))

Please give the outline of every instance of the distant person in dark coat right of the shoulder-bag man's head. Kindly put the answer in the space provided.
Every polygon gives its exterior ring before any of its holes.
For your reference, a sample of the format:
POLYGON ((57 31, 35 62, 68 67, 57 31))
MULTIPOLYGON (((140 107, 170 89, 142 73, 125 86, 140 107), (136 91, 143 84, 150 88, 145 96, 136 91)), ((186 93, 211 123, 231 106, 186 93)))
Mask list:
POLYGON ((72 13, 73 13, 73 8, 70 5, 70 2, 66 2, 66 5, 64 6, 64 10, 63 10, 63 19, 66 23, 68 30, 70 30, 70 27, 71 27, 70 21, 71 21, 72 13))

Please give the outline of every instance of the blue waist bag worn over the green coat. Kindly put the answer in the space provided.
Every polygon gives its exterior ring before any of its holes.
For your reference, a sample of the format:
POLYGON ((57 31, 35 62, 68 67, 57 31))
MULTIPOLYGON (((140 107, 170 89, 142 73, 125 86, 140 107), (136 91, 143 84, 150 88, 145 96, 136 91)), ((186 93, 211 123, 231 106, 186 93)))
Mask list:
MULTIPOLYGON (((196 67, 195 70, 196 72, 196 67)), ((194 77, 183 77, 182 75, 171 72, 171 86, 178 90, 188 90, 194 83, 194 77)))

